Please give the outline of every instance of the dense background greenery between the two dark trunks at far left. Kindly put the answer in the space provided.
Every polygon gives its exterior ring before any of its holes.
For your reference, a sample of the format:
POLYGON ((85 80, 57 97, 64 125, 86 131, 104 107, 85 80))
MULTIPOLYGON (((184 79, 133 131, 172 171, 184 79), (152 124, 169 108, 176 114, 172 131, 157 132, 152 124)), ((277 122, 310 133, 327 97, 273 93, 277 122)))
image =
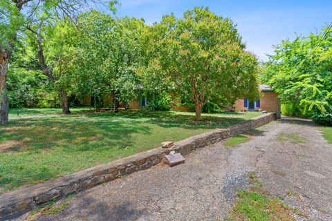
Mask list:
POLYGON ((39 70, 33 47, 30 39, 17 39, 7 77, 10 108, 54 106, 53 85, 39 70))

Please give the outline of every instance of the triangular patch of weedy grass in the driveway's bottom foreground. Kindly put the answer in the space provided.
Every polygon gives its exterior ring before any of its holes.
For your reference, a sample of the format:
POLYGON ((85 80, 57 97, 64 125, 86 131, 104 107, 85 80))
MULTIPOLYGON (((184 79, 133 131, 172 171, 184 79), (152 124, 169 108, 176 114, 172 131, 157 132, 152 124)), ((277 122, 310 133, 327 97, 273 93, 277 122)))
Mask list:
POLYGON ((249 181, 250 189, 238 192, 239 201, 225 220, 295 220, 293 215, 299 212, 270 195, 254 173, 249 173, 249 181))

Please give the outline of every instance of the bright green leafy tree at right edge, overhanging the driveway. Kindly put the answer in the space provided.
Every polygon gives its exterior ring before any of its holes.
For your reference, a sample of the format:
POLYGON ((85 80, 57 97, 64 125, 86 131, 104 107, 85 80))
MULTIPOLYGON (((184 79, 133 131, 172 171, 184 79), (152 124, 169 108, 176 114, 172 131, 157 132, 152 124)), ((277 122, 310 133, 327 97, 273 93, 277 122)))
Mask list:
MULTIPOLYGON (((285 40, 264 64, 261 80, 301 115, 332 113, 332 30, 285 40)), ((290 107, 288 107, 290 108, 290 107)), ((288 110, 291 111, 291 110, 288 110)), ((317 117, 315 117, 317 119, 317 117)), ((322 122, 324 117, 320 117, 322 122)), ((328 120, 328 118, 326 118, 328 120)))

